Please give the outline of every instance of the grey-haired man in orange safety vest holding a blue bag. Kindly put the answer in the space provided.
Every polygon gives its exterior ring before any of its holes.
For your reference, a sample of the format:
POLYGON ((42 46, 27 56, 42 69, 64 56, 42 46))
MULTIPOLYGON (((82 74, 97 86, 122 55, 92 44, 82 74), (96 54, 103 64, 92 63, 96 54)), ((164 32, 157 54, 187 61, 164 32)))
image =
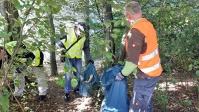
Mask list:
POLYGON ((126 36, 126 62, 115 80, 121 81, 133 72, 135 80, 129 112, 153 112, 152 94, 162 73, 156 31, 142 17, 138 2, 128 3, 124 13, 131 28, 126 36))

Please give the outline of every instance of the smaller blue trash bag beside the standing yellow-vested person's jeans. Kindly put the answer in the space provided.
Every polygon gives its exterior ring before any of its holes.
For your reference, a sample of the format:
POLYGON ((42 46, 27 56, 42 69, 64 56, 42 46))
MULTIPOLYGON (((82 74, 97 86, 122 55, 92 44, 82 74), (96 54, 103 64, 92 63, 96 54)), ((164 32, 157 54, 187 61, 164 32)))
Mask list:
POLYGON ((99 75, 97 74, 97 71, 95 69, 95 66, 93 63, 89 63, 86 66, 86 69, 82 75, 82 81, 79 89, 79 95, 81 96, 92 96, 92 91, 95 91, 99 85, 99 75), (91 76, 92 75, 92 76, 91 76), (89 80, 90 77, 93 77, 92 80, 89 80))

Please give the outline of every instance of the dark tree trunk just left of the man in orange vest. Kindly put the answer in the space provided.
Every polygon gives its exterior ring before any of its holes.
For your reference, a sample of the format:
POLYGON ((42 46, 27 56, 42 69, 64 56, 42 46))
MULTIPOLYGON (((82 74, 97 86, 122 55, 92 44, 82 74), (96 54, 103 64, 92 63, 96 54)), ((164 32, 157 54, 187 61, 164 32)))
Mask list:
MULTIPOLYGON (((112 21, 113 20, 113 14, 112 14, 112 7, 111 7, 111 4, 109 4, 107 2, 107 0, 104 0, 103 1, 103 6, 105 8, 105 17, 104 17, 104 21, 112 21)), ((104 36, 105 36, 105 39, 106 40, 110 40, 110 49, 108 50, 108 52, 111 52, 113 55, 112 55, 112 60, 115 60, 114 56, 115 56, 115 42, 114 42, 114 39, 111 37, 111 31, 113 29, 113 23, 111 23, 111 26, 110 27, 106 27, 104 25, 104 36)), ((112 60, 111 61, 108 61, 108 66, 111 66, 112 65, 112 60)))

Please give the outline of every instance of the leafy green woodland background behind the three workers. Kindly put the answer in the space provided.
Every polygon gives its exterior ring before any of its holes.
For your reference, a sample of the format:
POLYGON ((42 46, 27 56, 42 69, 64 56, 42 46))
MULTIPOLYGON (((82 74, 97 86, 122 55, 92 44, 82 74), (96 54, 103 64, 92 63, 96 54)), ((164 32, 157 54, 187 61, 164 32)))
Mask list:
MULTIPOLYGON (((130 1, 0 0, 1 45, 16 40, 19 46, 26 39, 34 40, 34 46, 50 53, 51 76, 58 76, 55 41, 60 38, 60 34, 65 33, 68 21, 86 22, 94 60, 101 61, 100 66, 103 68, 122 64, 125 57, 124 37, 129 29, 123 12, 130 1)), ((196 87, 193 92, 197 93, 195 100, 199 102, 199 1, 134 1, 140 3, 144 17, 156 29, 165 76, 163 82, 176 84, 189 82, 192 78, 196 87), (180 75, 173 77, 173 73, 180 75)), ((9 80, 11 65, 12 61, 0 74, 4 85, 8 85, 6 80, 9 80)), ((160 96, 164 97, 159 100, 160 103, 167 105, 168 94, 163 92, 160 96)), ((190 99, 184 101, 188 104, 192 102, 190 99)), ((9 109, 9 100, 6 100, 5 95, 0 95, 0 102, 0 110, 9 109)))

